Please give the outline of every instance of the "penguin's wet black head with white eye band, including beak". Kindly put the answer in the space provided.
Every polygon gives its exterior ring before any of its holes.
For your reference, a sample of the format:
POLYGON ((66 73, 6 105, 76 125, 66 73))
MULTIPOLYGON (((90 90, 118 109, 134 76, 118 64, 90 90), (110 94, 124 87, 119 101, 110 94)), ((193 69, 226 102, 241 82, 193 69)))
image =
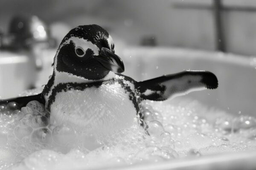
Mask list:
POLYGON ((78 26, 62 40, 54 61, 55 71, 85 79, 103 79, 110 71, 122 73, 124 64, 115 54, 108 32, 98 25, 78 26))

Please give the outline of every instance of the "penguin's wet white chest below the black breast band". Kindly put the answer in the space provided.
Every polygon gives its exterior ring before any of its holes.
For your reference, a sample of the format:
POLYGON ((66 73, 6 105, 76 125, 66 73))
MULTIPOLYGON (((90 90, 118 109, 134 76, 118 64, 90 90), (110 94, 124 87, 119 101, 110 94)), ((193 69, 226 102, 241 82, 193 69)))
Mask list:
POLYGON ((51 122, 57 125, 69 123, 94 133, 131 127, 137 124, 137 112, 129 95, 117 82, 83 91, 63 90, 56 94, 50 107, 51 122))

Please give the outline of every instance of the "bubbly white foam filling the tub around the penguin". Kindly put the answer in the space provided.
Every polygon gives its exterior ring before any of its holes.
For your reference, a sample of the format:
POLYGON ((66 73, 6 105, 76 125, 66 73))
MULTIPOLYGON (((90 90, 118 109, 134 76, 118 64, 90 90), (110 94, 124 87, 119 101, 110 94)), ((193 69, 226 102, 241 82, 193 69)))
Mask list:
POLYGON ((50 125, 37 101, 23 108, 0 105, 0 112, 0 169, 86 169, 256 150, 256 118, 191 99, 145 101, 139 112, 143 126, 98 136, 87 133, 90 125, 50 125))

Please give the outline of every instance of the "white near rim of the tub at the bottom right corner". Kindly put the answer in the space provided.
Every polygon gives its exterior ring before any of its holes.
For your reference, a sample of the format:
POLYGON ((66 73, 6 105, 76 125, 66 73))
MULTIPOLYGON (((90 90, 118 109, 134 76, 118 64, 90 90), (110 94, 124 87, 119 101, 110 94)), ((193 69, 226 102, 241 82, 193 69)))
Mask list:
MULTIPOLYGON (((221 165, 223 163, 230 163, 232 166, 224 167, 223 169, 232 169, 235 165, 244 165, 244 170, 247 169, 256 169, 256 151, 243 151, 237 153, 218 153, 205 155, 201 157, 186 157, 180 159, 173 159, 170 161, 160 161, 160 162, 152 162, 152 163, 141 163, 134 165, 119 165, 114 167, 100 167, 93 168, 92 170, 197 170, 197 169, 205 169, 215 170, 215 166, 213 165, 221 165), (248 165, 253 164, 253 167, 248 165)), ((77 170, 84 170, 83 168, 77 170)))

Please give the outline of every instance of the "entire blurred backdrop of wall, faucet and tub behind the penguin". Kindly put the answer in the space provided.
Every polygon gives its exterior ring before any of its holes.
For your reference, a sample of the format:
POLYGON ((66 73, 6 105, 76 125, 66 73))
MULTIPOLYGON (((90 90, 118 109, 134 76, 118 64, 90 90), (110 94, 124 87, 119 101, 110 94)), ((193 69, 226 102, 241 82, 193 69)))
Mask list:
POLYGON ((255 0, 1 0, 0 96, 45 85, 63 37, 89 24, 111 34, 125 75, 212 71, 220 87, 189 97, 254 113, 255 0))

